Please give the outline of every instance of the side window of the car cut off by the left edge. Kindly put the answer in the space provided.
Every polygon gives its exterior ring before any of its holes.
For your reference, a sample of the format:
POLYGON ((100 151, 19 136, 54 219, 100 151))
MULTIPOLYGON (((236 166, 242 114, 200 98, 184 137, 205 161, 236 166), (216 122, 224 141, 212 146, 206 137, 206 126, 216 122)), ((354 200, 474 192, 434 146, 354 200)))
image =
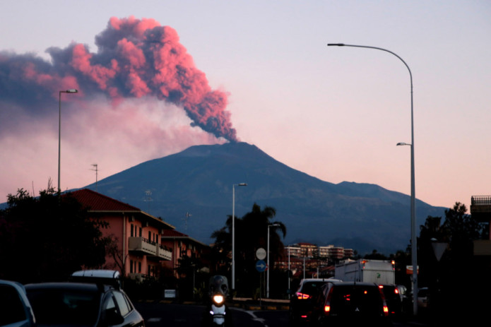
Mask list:
POLYGON ((13 286, 0 285, 0 295, 0 326, 27 319, 22 299, 13 286))

